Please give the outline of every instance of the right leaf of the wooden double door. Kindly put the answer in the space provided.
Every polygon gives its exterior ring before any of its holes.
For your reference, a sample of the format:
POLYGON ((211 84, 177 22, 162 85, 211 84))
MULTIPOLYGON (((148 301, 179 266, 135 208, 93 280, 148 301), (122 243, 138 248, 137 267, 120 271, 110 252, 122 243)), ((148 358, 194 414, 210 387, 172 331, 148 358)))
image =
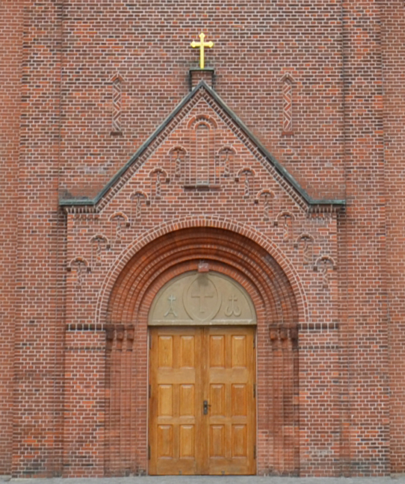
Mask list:
POLYGON ((254 329, 208 327, 204 346, 204 393, 211 403, 207 474, 254 474, 254 329))

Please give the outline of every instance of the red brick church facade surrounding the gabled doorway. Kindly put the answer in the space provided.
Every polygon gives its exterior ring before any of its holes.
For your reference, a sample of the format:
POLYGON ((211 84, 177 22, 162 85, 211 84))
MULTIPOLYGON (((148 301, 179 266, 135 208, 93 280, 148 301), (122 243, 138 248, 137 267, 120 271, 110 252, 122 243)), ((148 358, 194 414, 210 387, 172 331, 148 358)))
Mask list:
MULTIPOLYGON (((198 227, 210 227, 218 237, 229 228, 244 233, 285 271, 296 298, 300 337, 289 349, 298 352, 299 368, 289 370, 299 389, 287 386, 286 392, 293 402, 291 421, 299 411, 299 445, 296 429, 272 420, 276 414, 270 413, 272 424, 259 429, 260 472, 298 467, 303 475, 403 472, 402 2, 247 1, 242 8, 232 0, 209 5, 3 1, 0 9, 5 65, 0 474, 101 475, 103 466, 109 474, 146 470, 143 407, 131 414, 140 439, 134 443, 127 415, 114 413, 116 402, 110 402, 109 378, 115 374, 110 370, 129 368, 130 358, 122 362, 103 353, 103 327, 92 333, 77 325, 123 324, 109 320, 109 311, 119 307, 118 282, 125 279, 131 257, 158 235, 181 238, 177 231, 186 227, 194 227, 194 235, 198 227), (216 92, 311 196, 345 199, 345 214, 307 216, 273 183, 244 136, 237 134, 235 141, 226 131, 229 125, 218 119, 217 139, 235 144, 239 168, 254 166, 257 192, 275 190, 270 217, 263 214, 262 199, 245 199, 243 181, 234 179, 224 180, 219 195, 184 192, 172 179, 162 183, 159 200, 151 196, 156 186, 149 174, 157 166, 167 168, 170 149, 188 136, 185 125, 155 146, 99 214, 78 209, 62 214, 58 194, 94 196, 185 97, 188 71, 198 65, 190 42, 202 30, 215 44, 207 49, 206 66, 215 68, 216 92), (129 196, 137 189, 151 204, 142 201, 142 218, 129 217, 117 241, 109 218, 120 211, 131 214, 129 196), (294 237, 288 240, 282 224, 274 223, 286 209, 294 216, 294 237), (298 242, 305 233, 314 239, 311 264, 298 242), (108 239, 100 259, 91 242, 97 234, 108 239), (331 257, 328 275, 322 272, 323 261, 329 264, 323 256, 331 257), (69 324, 75 326, 65 334, 69 324), (94 361, 86 352, 93 343, 94 361), (83 368, 77 366, 79 354, 83 368), (103 374, 105 363, 111 368, 103 374), (76 386, 86 369, 92 383, 80 391, 91 394, 88 407, 76 386), (90 419, 82 430, 75 426, 74 412, 90 419), (96 443, 88 450, 90 442, 96 443), (111 442, 129 442, 135 460, 107 455, 111 442)), ((206 240, 212 246, 218 242, 211 235, 206 240)), ((171 257, 170 247, 166 253, 161 249, 162 259, 171 257)), ((185 264, 195 253, 191 245, 185 264)), ((236 267, 236 255, 233 260, 236 267)), ((248 268, 248 256, 245 262, 248 268)), ((179 262, 175 270, 181 267, 179 262)), ((259 331, 262 345, 271 340, 270 322, 281 323, 274 314, 286 298, 283 291, 277 294, 270 297, 272 316, 259 331)), ((125 324, 133 322, 132 303, 125 300, 116 313, 125 324)), ((136 358, 139 368, 146 368, 146 329, 141 336, 136 358)), ((281 355, 282 346, 272 351, 281 355)), ((268 395, 263 384, 262 402, 280 397, 274 368, 287 364, 272 358, 268 367, 258 366, 264 381, 272 380, 268 395)), ((123 380, 127 393, 134 391, 128 390, 128 378, 123 380)), ((145 372, 136 375, 133 388, 140 398, 145 382, 145 372)))

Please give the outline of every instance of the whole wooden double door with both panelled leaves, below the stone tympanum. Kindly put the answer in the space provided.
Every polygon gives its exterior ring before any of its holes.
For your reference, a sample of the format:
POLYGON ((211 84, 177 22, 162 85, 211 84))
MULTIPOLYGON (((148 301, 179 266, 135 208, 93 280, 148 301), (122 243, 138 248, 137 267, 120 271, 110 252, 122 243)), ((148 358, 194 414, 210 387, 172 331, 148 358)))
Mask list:
POLYGON ((254 327, 150 337, 149 474, 255 474, 254 327))

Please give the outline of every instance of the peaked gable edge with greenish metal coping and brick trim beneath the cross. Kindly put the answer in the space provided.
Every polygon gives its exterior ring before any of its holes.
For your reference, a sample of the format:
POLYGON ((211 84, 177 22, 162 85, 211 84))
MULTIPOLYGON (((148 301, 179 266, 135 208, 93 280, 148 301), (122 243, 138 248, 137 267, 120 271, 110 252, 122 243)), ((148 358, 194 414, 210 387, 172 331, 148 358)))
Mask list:
POLYGON ((263 144, 250 132, 250 130, 242 123, 242 121, 235 115, 235 113, 228 108, 222 99, 211 89, 205 81, 200 81, 198 86, 194 88, 181 101, 176 109, 166 118, 157 130, 142 144, 142 146, 131 157, 131 160, 123 166, 114 177, 107 183, 107 185, 97 194, 94 199, 82 197, 80 199, 61 199, 61 206, 79 205, 82 207, 92 207, 92 211, 98 212, 121 190, 125 183, 136 173, 142 164, 150 157, 157 147, 166 140, 172 131, 179 125, 181 120, 193 109, 193 107, 204 99, 206 103, 215 111, 226 123, 226 125, 233 131, 235 136, 239 138, 246 147, 250 150, 252 155, 260 160, 270 172, 270 175, 278 182, 280 187, 287 192, 291 198, 304 209, 313 207, 343 207, 345 201, 343 200, 325 200, 313 199, 300 186, 298 181, 294 179, 290 173, 263 147, 263 144))

